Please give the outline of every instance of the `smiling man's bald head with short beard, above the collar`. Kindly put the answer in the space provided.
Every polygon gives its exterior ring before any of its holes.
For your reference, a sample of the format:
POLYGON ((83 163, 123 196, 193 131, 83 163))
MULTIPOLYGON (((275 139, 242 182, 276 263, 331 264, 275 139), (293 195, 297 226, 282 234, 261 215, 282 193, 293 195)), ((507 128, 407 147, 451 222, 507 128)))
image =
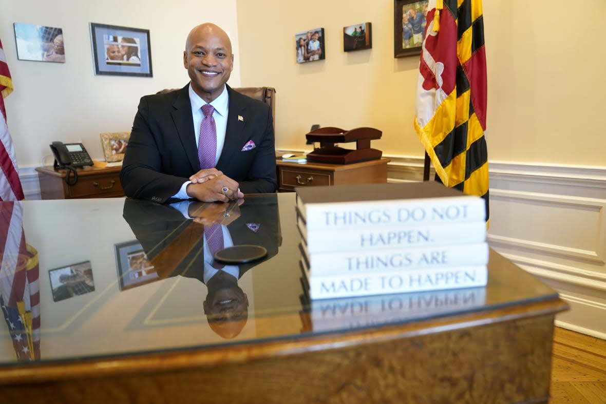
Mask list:
POLYGON ((187 36, 183 65, 191 87, 204 101, 211 102, 223 91, 233 70, 231 41, 215 24, 202 24, 187 36))

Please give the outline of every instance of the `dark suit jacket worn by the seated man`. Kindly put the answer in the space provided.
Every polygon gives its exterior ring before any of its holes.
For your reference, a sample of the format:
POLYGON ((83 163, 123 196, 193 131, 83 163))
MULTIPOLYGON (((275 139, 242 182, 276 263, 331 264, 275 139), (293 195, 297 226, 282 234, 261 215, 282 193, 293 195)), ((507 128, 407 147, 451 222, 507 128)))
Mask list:
MULTIPOLYGON (((247 193, 276 191, 276 153, 271 109, 227 86, 229 113, 217 170, 247 193), (247 142, 255 148, 242 151, 247 142)), ((133 122, 120 181, 126 196, 164 203, 200 170, 188 85, 144 96, 133 122)))

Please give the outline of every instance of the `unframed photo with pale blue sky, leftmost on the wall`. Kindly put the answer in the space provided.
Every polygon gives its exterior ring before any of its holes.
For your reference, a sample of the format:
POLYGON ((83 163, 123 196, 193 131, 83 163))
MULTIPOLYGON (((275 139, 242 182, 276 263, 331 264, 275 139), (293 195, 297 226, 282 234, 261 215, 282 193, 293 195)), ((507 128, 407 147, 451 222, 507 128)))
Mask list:
POLYGON ((62 28, 15 22, 17 59, 65 63, 62 28))

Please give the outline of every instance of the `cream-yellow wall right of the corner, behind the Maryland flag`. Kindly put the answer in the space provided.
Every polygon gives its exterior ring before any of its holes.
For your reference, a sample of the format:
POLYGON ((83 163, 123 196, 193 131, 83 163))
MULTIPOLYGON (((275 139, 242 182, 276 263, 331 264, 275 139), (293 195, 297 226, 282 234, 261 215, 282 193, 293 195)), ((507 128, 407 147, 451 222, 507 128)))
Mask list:
MULTIPOLYGON (((418 58, 393 58, 393 1, 236 0, 242 85, 276 87, 276 144, 305 148, 311 124, 383 131, 373 147, 422 156, 412 127, 418 58), (342 28, 371 22, 373 48, 342 28), (295 33, 325 29, 326 59, 297 64, 295 33)), ((604 0, 485 0, 490 161, 606 165, 604 0), (599 31, 600 30, 600 31, 599 31)))

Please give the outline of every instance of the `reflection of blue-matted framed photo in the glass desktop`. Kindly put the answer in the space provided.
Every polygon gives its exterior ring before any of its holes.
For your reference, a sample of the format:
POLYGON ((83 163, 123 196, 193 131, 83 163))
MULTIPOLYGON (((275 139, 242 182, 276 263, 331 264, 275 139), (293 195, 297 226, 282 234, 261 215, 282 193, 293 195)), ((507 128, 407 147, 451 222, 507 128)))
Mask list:
POLYGON ((135 288, 160 279, 138 240, 118 243, 115 248, 120 290, 135 288))

